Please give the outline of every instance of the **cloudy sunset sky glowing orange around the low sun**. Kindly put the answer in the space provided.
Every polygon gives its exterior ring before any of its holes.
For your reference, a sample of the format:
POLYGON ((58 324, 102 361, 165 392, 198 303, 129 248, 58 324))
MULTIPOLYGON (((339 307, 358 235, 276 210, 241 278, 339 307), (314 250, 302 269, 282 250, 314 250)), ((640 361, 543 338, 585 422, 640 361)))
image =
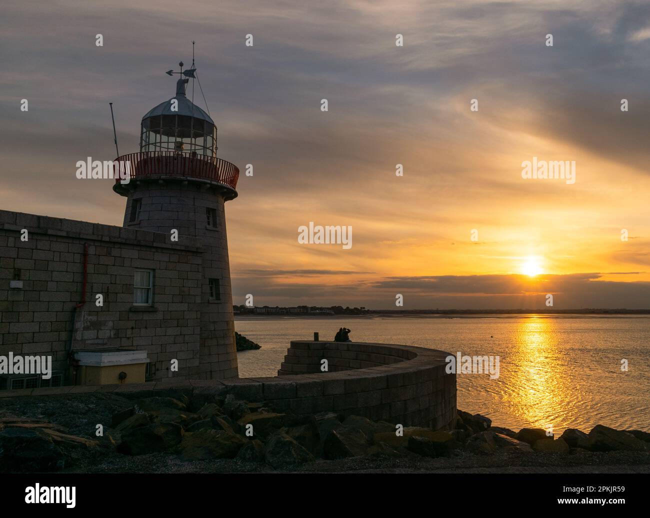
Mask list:
MULTIPOLYGON (((140 119, 175 92, 164 72, 196 40, 218 156, 242 170, 226 203, 234 304, 650 307, 650 3, 2 11, 0 209, 121 225, 112 181, 75 164, 114 159, 109 102, 120 153, 138 151, 140 119), (523 178, 534 157, 575 162, 575 183, 523 178), (352 227, 352 246, 300 243, 309 222, 352 227)), ((205 108, 198 86, 194 100, 205 108)))

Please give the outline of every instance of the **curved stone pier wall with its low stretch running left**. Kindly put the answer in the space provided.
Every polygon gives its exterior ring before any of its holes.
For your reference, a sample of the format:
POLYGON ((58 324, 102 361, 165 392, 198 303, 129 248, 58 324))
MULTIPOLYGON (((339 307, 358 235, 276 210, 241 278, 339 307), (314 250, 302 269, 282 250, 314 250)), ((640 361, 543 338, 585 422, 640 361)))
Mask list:
POLYGON ((445 372, 447 356, 447 352, 406 345, 292 341, 282 375, 274 378, 168 378, 155 383, 24 389, 0 391, 0 399, 90 392, 140 398, 173 396, 175 392, 220 398, 232 394, 300 415, 329 411, 450 430, 456 419, 456 374, 445 372), (322 359, 327 359, 335 372, 320 372, 322 359), (290 365, 292 374, 284 374, 290 365))

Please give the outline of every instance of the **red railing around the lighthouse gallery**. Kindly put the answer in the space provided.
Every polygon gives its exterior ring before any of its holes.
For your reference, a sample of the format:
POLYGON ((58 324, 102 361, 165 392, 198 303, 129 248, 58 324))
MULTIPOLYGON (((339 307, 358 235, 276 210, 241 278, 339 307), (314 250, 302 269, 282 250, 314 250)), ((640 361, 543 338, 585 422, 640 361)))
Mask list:
POLYGON ((184 178, 197 178, 210 180, 237 188, 239 168, 216 157, 204 157, 192 153, 177 153, 176 151, 142 151, 130 153, 115 159, 115 183, 122 180, 116 171, 119 162, 129 162, 131 179, 146 178, 148 176, 172 176, 184 178))

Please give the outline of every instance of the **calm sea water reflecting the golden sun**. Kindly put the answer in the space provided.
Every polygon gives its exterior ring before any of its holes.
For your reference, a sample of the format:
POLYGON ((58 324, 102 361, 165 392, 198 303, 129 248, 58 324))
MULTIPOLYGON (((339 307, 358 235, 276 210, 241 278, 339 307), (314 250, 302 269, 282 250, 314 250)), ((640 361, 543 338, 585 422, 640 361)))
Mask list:
POLYGON ((650 431, 650 318, 258 318, 235 329, 262 348, 240 352, 239 375, 276 376, 289 341, 333 339, 346 326, 359 342, 500 357, 500 376, 458 374, 458 408, 482 413, 495 426, 519 430, 595 424, 650 431), (627 372, 621 360, 627 359, 627 372))

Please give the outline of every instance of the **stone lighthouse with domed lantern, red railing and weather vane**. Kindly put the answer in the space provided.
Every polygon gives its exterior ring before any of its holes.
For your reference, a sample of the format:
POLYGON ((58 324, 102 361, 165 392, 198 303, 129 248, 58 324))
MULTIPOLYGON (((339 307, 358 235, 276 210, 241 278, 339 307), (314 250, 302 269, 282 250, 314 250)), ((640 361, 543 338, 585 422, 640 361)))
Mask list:
POLYGON ((175 96, 142 118, 140 152, 117 159, 130 162, 131 180, 116 181, 113 190, 127 198, 124 227, 168 236, 175 230, 179 242, 184 236, 202 241, 199 365, 190 378, 233 378, 237 351, 224 205, 237 197, 239 169, 216 157, 214 121, 185 96, 194 68, 180 66, 175 96))

